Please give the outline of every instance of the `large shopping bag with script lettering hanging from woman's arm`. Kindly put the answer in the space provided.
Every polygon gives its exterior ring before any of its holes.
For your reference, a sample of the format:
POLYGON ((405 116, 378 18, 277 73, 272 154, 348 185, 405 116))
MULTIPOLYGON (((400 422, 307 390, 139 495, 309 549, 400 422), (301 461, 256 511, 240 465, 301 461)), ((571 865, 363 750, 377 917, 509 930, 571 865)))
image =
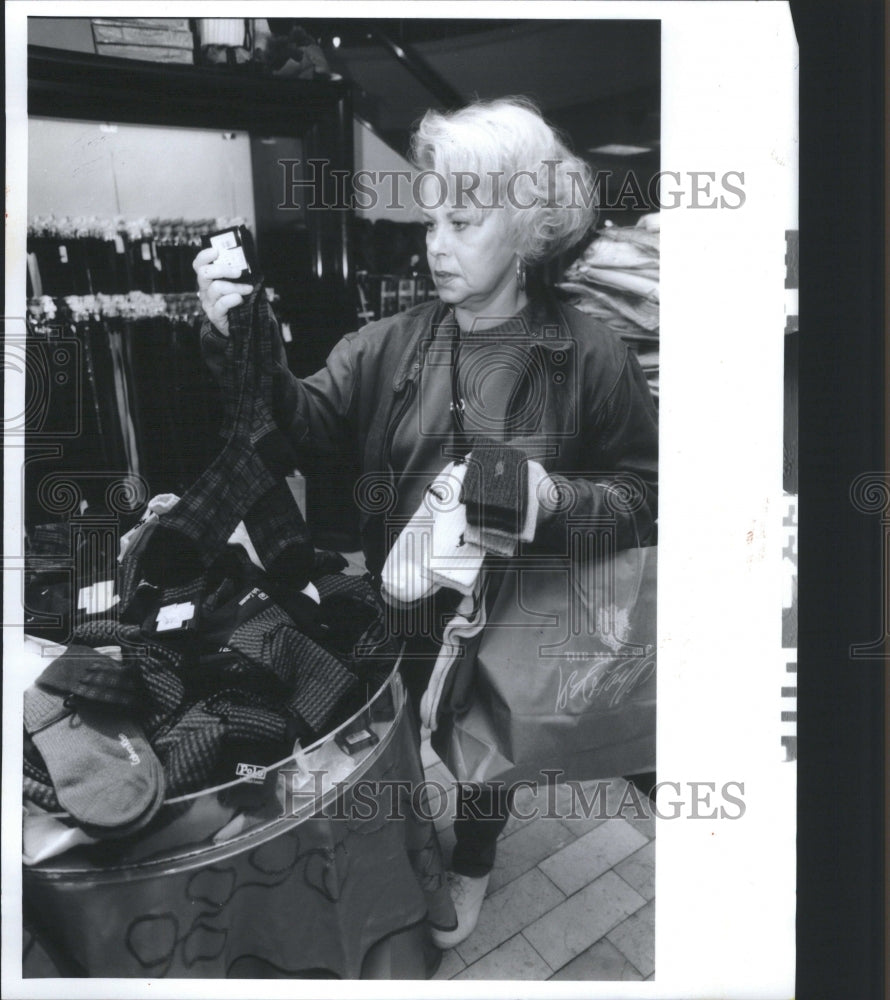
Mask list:
POLYGON ((455 777, 546 783, 654 770, 657 549, 514 561, 498 576, 452 689, 463 704, 452 697, 433 733, 455 777))

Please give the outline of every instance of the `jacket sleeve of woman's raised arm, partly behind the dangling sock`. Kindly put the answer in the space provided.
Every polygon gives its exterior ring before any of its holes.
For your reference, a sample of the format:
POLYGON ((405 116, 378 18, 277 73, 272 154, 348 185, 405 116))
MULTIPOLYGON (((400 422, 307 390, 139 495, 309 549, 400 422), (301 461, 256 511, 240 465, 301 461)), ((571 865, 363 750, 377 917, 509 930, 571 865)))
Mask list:
MULTIPOLYGON (((307 378, 297 378, 287 366, 284 342, 273 320, 272 354, 275 420, 291 445, 302 451, 346 452, 353 443, 353 406, 358 391, 355 334, 347 334, 328 355, 324 368, 307 378)), ((201 352, 218 383, 224 363, 226 339, 205 319, 201 327, 201 352)))

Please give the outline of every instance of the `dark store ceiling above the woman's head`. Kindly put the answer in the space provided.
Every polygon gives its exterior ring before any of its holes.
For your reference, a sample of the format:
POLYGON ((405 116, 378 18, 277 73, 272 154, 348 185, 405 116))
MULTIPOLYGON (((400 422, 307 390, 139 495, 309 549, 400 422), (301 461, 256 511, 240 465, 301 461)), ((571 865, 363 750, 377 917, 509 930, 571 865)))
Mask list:
MULTIPOLYGON (((356 113, 399 152, 427 108, 518 93, 536 100, 579 151, 606 144, 638 146, 649 150, 640 156, 657 169, 658 21, 338 18, 299 23, 319 40, 331 68, 354 82, 356 113)), ((609 160, 608 155, 599 158, 609 160)))

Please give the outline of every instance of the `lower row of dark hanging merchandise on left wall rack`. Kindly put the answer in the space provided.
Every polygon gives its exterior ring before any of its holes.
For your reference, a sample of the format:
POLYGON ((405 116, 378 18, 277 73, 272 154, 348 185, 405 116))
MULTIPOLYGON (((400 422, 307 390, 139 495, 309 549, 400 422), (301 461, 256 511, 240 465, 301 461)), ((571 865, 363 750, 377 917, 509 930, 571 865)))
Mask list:
POLYGON ((220 408, 200 317, 194 292, 31 300, 26 389, 40 405, 27 428, 26 523, 52 519, 41 499, 48 477, 101 507, 103 476, 182 493, 201 472, 219 448, 220 408))

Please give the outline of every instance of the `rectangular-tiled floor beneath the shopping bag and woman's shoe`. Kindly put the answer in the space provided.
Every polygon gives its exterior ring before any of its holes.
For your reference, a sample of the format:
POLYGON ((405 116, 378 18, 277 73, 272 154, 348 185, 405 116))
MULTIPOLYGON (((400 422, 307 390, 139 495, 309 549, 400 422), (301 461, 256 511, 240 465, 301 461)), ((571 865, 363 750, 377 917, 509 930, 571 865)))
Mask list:
MULTIPOLYGON (((453 778, 428 740, 422 753, 427 779, 449 789, 448 809, 436 822, 447 858, 453 778)), ((621 778, 576 786, 574 799, 568 786, 547 794, 517 793, 522 811, 537 807, 537 815, 511 817, 476 930, 444 953, 436 979, 654 978, 655 820, 648 800, 621 778), (600 798, 593 800, 596 785, 600 798), (578 788, 592 808, 585 810, 578 788)))

